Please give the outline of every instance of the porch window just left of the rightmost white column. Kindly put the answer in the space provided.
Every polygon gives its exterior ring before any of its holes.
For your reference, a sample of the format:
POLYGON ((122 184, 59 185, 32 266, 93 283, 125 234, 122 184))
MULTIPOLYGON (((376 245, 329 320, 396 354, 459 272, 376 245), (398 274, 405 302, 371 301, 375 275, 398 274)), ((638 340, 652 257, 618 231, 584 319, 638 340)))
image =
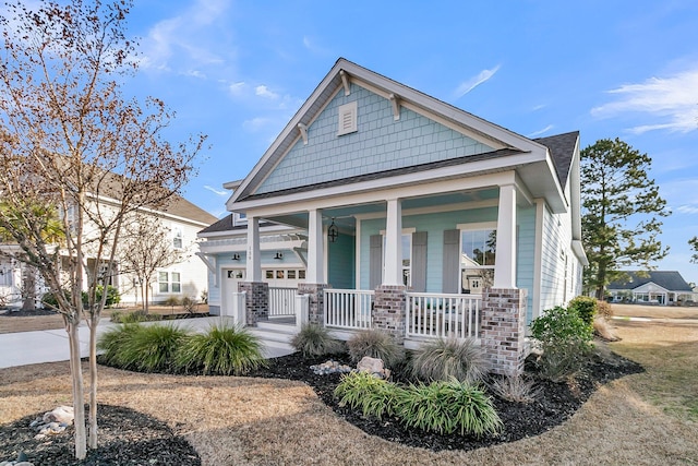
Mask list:
POLYGON ((494 283, 497 231, 478 227, 460 231, 460 290, 479 295, 494 283))

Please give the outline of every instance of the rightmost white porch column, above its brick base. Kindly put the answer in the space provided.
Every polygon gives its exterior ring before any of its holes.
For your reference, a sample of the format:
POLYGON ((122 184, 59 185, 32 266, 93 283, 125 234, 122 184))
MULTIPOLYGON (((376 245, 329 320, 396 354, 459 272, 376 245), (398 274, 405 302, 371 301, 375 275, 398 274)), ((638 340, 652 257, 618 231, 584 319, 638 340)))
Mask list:
POLYGON ((516 189, 500 187, 494 288, 516 288, 516 189))

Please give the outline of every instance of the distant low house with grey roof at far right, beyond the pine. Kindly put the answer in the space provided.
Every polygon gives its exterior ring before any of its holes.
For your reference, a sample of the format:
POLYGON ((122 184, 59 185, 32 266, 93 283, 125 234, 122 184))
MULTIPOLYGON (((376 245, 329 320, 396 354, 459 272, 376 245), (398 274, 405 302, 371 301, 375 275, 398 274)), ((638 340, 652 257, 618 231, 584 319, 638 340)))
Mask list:
POLYGON ((673 306, 694 301, 694 290, 676 271, 627 272, 624 279, 609 284, 611 302, 673 306))

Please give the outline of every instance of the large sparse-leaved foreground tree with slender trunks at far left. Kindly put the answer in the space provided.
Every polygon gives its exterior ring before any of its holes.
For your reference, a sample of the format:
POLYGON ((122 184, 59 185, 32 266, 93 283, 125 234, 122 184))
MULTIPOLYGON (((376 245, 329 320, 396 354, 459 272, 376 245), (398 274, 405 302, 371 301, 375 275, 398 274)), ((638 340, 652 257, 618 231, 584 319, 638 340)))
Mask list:
POLYGON ((86 456, 77 325, 89 326, 89 438, 97 447, 96 328, 129 216, 158 208, 192 174, 203 136, 161 136, 164 103, 127 99, 135 70, 124 36, 131 2, 21 2, 0 13, 0 228, 58 300, 70 344, 75 455, 86 456), (47 235, 57 219, 60 235, 47 235), (68 292, 63 292, 68 290, 68 292), (83 306, 82 291, 87 300, 83 306))

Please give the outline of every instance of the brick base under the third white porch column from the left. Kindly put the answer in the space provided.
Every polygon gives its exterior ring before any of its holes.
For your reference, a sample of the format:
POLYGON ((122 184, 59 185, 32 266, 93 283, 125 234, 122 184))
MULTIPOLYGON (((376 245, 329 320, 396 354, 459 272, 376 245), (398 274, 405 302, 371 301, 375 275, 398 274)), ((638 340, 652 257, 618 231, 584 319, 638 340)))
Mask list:
POLYGON ((402 344, 407 330, 407 288, 402 285, 378 286, 371 315, 373 328, 389 333, 402 344))

